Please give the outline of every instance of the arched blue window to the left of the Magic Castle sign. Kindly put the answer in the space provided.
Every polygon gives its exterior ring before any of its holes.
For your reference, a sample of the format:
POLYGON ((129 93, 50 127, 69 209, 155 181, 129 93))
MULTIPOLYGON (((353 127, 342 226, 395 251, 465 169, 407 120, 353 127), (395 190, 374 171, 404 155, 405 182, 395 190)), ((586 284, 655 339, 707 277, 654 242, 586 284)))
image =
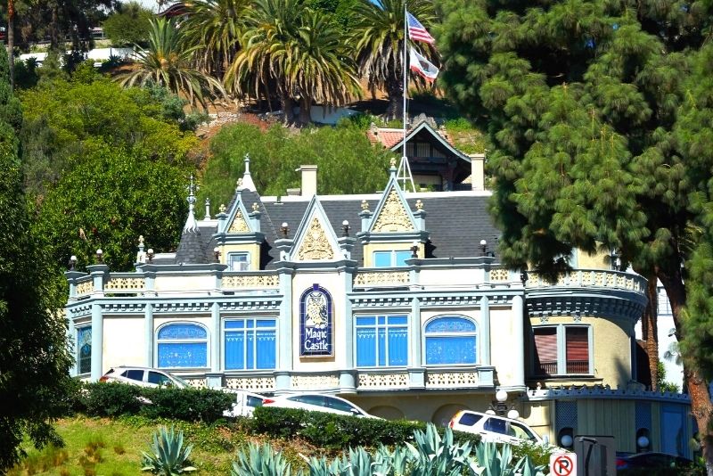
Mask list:
POLYGON ((159 329, 159 367, 208 366, 208 332, 198 324, 167 324, 159 329))

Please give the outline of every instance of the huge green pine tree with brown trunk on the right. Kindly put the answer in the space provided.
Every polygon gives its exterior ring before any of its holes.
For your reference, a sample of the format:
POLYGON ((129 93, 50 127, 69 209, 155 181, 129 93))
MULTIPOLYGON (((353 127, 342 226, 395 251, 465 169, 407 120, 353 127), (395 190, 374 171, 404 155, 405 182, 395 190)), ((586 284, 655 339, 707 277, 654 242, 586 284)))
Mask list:
MULTIPOLYGON (((704 217, 693 197, 709 193, 711 163, 701 148, 684 160, 675 130, 686 97, 697 99, 684 82, 708 38, 710 7, 675 0, 439 4, 446 58, 439 80, 471 119, 488 125, 504 261, 553 278, 569 268, 563 257, 575 247, 614 250, 624 266, 660 280, 683 341, 693 285, 684 281, 686 263, 704 244, 693 231, 704 217)), ((711 402, 699 364, 689 360, 684 376, 713 474, 711 402)))

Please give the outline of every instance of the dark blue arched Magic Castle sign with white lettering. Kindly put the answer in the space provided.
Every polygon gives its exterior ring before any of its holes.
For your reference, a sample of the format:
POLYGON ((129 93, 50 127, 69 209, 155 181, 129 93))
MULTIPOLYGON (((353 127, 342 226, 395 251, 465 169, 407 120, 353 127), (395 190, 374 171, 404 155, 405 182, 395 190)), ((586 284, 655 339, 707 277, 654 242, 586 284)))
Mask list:
POLYGON ((299 356, 332 355, 332 296, 319 284, 299 298, 299 356))

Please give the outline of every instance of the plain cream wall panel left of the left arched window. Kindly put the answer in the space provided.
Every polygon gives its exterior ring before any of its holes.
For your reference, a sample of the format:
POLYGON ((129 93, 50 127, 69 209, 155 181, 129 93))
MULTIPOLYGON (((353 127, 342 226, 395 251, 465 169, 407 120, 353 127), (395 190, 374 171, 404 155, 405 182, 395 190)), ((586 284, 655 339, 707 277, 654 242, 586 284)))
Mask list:
POLYGON ((143 316, 104 317, 102 373, 117 365, 153 365, 145 361, 143 316))

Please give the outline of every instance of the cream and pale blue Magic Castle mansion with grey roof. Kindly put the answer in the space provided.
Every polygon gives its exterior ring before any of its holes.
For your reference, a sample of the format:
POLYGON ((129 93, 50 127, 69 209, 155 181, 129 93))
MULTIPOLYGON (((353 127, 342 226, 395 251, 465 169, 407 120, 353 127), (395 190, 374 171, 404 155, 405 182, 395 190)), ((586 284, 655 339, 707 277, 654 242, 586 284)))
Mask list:
POLYGON ((564 446, 612 435, 621 451, 690 456, 688 397, 636 382, 645 280, 584 253, 556 283, 501 266, 482 160, 471 168, 470 190, 405 193, 392 165, 381 193, 328 196, 304 166, 299 194, 266 197, 246 160, 217 217, 195 217, 192 188, 176 252, 142 241, 134 272, 67 273, 73 373, 153 366, 196 387, 318 391, 437 424, 506 390, 506 408, 564 446))

